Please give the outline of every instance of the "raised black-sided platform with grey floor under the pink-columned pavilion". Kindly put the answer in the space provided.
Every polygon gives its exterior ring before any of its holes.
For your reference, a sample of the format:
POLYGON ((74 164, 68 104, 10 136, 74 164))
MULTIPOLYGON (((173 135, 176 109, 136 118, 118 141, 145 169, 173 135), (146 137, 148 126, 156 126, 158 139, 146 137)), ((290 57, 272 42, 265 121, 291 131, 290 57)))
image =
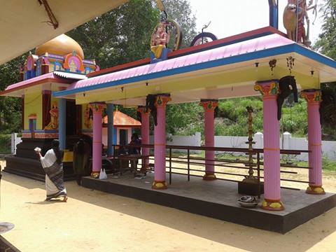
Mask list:
POLYGON ((336 195, 332 193, 308 195, 303 190, 282 189, 284 211, 265 211, 260 209, 260 204, 258 208, 245 209, 237 204, 241 195, 237 193, 235 182, 203 181, 197 177, 192 177, 188 182, 186 176, 174 174, 172 185, 167 190, 152 190, 152 181, 153 174, 148 174, 146 179, 134 179, 132 174, 125 174, 119 179, 109 176, 104 181, 85 177, 82 185, 282 234, 336 206, 336 195))

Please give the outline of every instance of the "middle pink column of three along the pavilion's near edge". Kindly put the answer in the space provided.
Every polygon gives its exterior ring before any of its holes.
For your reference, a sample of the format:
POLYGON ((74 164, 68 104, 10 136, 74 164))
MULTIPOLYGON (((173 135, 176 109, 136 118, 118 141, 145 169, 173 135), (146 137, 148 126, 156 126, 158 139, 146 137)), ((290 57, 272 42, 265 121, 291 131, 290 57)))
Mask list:
POLYGON ((158 94, 155 107, 158 124, 154 127, 154 182, 153 189, 167 189, 166 185, 166 105, 169 94, 158 94))

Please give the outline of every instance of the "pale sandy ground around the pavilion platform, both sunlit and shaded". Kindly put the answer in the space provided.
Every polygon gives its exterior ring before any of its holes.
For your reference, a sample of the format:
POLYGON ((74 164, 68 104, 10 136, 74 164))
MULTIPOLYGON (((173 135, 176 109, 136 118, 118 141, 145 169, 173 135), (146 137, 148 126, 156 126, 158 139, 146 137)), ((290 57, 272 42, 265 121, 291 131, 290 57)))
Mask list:
MULTIPOLYGON (((1 164, 3 167, 3 164, 1 164)), ((334 174, 325 189, 336 193, 334 174)), ((44 183, 3 173, 3 234, 21 251, 335 251, 336 208, 286 235, 106 194, 66 182, 69 201, 43 202, 44 183)))

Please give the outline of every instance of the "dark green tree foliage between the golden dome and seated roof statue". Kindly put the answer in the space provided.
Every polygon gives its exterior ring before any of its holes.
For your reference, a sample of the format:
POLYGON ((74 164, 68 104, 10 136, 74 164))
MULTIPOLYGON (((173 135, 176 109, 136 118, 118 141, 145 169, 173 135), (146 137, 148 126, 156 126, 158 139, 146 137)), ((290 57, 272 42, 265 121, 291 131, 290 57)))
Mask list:
POLYGON ((83 48, 85 58, 101 69, 148 57, 159 11, 150 0, 132 0, 67 33, 83 48))

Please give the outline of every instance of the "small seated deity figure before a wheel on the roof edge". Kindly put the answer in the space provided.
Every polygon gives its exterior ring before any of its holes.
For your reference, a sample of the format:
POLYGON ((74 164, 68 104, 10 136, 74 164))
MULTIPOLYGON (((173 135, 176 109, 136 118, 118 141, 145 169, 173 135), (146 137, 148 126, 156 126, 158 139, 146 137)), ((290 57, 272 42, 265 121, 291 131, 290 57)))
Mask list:
POLYGON ((156 59, 160 59, 162 50, 166 48, 169 42, 169 35, 166 32, 165 22, 160 22, 152 35, 151 51, 154 53, 156 59))

